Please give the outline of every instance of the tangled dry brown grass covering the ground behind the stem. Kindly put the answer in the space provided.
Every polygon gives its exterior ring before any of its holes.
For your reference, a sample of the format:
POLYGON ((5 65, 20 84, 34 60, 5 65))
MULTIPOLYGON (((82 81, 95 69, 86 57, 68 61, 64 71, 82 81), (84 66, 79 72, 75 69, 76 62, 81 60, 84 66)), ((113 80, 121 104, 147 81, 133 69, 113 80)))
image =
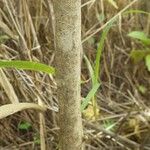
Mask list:
MULTIPOLYGON (((109 3, 83 0, 82 37, 84 53, 91 62, 95 60, 96 45, 102 26, 132 1, 118 0, 116 10, 109 3), (84 5, 87 4, 87 5, 84 5), (105 15, 102 18, 102 13, 105 15), (96 33, 96 34, 93 34, 96 33), (91 37, 85 40, 87 37, 91 37)), ((0 0, 0 59, 34 60, 54 65, 54 20, 51 0, 0 0)), ((143 5, 140 5, 145 7, 143 5)), ((138 8, 138 3, 132 8, 138 8)), ((144 16, 129 14, 118 15, 118 21, 111 29, 106 40, 101 64, 101 88, 97 92, 100 117, 92 122, 84 120, 86 148, 88 150, 111 149, 133 150, 150 149, 149 125, 149 73, 141 62, 134 65, 129 58, 133 48, 139 48, 126 35, 132 30, 149 31, 149 21, 144 16), (143 23, 144 22, 144 23, 143 23), (138 90, 139 85, 147 88, 145 94, 138 90), (102 125, 113 124, 112 130, 104 130, 102 125)), ((45 104, 48 110, 43 116, 35 111, 23 111, 0 120, 0 149, 40 149, 37 140, 46 137, 48 150, 58 149, 56 84, 52 76, 18 71, 0 70, 1 105, 19 102, 45 104), (18 129, 18 124, 27 121, 32 124, 28 131, 18 129), (42 130, 45 126, 45 131, 42 130)), ((82 77, 88 80, 88 70, 83 61, 82 77)), ((86 96, 91 82, 82 86, 86 96)), ((41 147, 44 149, 45 145, 41 147)))

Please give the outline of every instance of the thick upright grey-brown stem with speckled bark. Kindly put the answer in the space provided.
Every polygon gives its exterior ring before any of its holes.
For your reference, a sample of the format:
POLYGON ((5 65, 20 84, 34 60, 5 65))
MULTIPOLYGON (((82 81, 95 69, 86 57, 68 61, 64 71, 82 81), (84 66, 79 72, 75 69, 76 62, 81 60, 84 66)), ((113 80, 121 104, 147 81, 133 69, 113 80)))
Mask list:
POLYGON ((81 0, 54 0, 54 12, 60 150, 81 150, 81 0))

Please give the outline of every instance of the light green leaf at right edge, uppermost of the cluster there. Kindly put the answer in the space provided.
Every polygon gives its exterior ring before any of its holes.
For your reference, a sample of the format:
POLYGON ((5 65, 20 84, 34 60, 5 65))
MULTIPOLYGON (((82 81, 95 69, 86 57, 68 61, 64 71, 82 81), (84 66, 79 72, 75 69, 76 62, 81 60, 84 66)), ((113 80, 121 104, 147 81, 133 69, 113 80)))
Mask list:
POLYGON ((140 40, 145 45, 150 45, 150 38, 144 32, 132 31, 128 36, 140 40))

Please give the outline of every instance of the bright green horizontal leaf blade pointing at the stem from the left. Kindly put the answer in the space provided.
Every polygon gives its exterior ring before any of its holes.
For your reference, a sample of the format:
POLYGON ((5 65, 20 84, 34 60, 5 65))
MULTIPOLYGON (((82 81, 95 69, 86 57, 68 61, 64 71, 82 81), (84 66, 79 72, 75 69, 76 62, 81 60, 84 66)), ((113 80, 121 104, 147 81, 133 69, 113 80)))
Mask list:
POLYGON ((24 70, 41 71, 48 74, 54 74, 55 69, 51 66, 31 61, 21 61, 21 60, 0 60, 1 68, 15 68, 24 70))

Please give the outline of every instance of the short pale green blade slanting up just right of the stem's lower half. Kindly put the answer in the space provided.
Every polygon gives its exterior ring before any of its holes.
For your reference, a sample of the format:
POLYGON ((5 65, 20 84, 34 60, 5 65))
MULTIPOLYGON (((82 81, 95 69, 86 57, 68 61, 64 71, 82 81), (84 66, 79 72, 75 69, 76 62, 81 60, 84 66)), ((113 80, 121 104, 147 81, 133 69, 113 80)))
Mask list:
POLYGON ((87 106, 88 103, 90 102, 91 98, 95 95, 95 93, 97 92, 98 88, 99 88, 100 84, 97 83, 93 86, 93 88, 90 90, 90 92, 88 93, 88 95, 86 96, 86 98, 83 100, 82 104, 81 104, 81 111, 83 111, 87 106))

